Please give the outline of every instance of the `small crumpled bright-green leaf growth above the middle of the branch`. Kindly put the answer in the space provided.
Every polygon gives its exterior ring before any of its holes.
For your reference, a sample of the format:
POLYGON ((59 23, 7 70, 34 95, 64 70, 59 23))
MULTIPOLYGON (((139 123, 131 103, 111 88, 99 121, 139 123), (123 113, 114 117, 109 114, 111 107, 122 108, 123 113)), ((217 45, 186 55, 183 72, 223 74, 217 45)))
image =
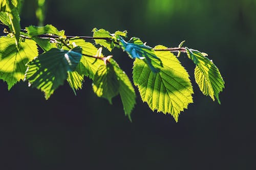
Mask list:
POLYGON ((106 31, 104 29, 93 29, 93 37, 95 38, 109 38, 108 40, 106 39, 94 39, 96 44, 100 44, 101 46, 104 46, 105 48, 107 48, 110 52, 112 51, 112 49, 117 46, 119 47, 118 42, 117 42, 117 38, 119 38, 119 36, 123 36, 126 37, 127 31, 116 31, 114 34, 110 34, 109 31, 106 31))

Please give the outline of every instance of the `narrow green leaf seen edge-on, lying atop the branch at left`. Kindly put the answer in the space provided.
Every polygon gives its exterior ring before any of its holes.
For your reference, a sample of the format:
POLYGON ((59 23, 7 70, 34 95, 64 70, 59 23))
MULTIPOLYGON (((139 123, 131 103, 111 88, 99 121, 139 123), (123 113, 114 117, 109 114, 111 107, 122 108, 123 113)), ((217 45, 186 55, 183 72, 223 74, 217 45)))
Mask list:
POLYGON ((46 25, 44 27, 29 26, 29 27, 26 27, 26 30, 28 31, 29 37, 35 37, 42 34, 55 34, 58 36, 65 36, 64 30, 58 31, 52 25, 46 25))

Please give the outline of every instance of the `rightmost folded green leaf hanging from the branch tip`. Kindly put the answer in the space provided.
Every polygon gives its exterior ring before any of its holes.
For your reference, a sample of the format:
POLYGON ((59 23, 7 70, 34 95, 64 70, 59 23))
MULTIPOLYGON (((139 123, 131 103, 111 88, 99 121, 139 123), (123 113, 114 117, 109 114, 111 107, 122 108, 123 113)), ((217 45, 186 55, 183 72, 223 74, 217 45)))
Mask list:
POLYGON ((205 57, 205 53, 187 47, 186 52, 188 58, 196 64, 195 79, 200 90, 204 95, 209 95, 213 101, 216 98, 218 103, 221 104, 219 93, 223 90, 225 82, 219 69, 211 60, 205 57))

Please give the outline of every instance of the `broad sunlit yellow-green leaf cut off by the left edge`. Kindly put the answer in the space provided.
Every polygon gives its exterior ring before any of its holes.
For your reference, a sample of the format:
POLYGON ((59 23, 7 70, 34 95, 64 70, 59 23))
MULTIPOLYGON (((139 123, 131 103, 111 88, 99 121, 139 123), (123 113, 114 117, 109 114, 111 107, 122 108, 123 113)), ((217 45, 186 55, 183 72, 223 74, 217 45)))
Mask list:
POLYGON ((36 43, 26 39, 16 48, 15 38, 0 38, 0 79, 8 84, 8 89, 24 79, 27 69, 26 63, 38 55, 36 43))

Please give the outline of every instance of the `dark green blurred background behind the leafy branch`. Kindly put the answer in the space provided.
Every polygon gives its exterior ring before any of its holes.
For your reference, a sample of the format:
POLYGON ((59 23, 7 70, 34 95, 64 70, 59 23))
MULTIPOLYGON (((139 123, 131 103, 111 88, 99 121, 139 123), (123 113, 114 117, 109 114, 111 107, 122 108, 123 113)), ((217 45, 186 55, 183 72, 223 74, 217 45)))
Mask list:
MULTIPOLYGON (((27 83, 8 91, 0 81, 1 169, 256 169, 255 0, 46 0, 45 5, 39 23, 37 1, 24 0, 22 28, 52 24, 66 35, 84 36, 94 27, 127 30, 150 46, 175 47, 186 40, 184 46, 207 53, 220 69, 222 104, 199 91, 195 66, 185 55, 179 59, 193 82, 194 104, 178 123, 152 112, 137 89, 130 123, 120 97, 113 105, 97 98, 89 79, 77 96, 66 83, 48 101, 27 83)), ((113 55, 132 78, 132 60, 118 49, 113 55)))

